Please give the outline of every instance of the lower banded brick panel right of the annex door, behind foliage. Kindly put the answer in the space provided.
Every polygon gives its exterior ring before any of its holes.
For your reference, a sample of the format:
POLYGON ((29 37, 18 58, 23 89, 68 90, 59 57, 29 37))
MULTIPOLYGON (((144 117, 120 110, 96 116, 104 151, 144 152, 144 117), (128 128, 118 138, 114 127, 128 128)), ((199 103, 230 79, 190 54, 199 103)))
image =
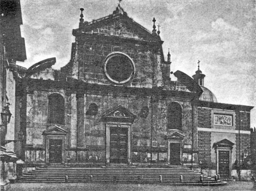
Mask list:
MULTIPOLYGON (((250 134, 240 133, 240 162, 242 163, 242 153, 250 145, 250 134)), ((239 133, 236 133, 236 159, 239 162, 239 133)))

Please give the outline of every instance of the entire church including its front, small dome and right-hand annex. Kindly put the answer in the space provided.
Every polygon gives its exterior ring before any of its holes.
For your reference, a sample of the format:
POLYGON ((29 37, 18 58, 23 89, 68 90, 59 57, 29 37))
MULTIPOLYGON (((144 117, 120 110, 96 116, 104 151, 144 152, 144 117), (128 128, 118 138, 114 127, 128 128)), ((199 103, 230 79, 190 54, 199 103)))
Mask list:
POLYGON ((120 4, 92 22, 82 11, 70 62, 54 70, 46 59, 17 83, 25 165, 213 165, 230 177, 250 146, 253 107, 218 103, 199 67, 171 81, 155 19, 150 32, 120 4))

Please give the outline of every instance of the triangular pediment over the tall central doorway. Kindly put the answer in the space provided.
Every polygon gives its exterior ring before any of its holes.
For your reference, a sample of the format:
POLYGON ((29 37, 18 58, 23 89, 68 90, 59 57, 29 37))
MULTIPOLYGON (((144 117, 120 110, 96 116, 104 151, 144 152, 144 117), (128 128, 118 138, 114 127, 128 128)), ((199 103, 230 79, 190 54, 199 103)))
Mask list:
POLYGON ((125 107, 118 105, 102 115, 103 122, 133 123, 136 116, 125 107))

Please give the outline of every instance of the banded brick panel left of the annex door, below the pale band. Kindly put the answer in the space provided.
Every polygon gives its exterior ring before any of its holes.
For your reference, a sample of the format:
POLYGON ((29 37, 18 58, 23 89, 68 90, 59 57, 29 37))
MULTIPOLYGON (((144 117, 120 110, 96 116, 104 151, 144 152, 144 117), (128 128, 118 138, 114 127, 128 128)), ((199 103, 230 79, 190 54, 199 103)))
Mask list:
POLYGON ((211 162, 211 132, 198 131, 198 161, 211 162))

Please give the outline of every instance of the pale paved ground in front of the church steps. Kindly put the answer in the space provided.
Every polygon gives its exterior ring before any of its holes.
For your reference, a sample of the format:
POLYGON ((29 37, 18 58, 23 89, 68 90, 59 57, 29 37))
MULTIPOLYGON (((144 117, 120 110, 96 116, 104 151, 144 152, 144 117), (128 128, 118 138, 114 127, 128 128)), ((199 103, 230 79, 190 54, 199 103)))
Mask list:
POLYGON ((170 186, 100 183, 15 183, 9 191, 247 191, 252 182, 228 182, 225 186, 170 186))

